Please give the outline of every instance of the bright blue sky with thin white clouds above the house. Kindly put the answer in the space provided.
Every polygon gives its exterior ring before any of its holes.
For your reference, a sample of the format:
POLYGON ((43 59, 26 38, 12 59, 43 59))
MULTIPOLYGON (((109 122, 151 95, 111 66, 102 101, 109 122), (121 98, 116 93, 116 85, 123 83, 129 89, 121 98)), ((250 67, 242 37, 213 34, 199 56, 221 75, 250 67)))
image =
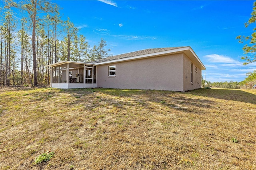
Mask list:
MULTIPOLYGON (((103 38, 113 55, 159 47, 190 46, 205 65, 206 80, 243 81, 256 62, 243 65, 236 37, 249 36, 255 24, 244 24, 253 2, 154 0, 52 0, 62 20, 79 28, 89 45, 103 38)), ((248 43, 248 42, 246 42, 248 43)))

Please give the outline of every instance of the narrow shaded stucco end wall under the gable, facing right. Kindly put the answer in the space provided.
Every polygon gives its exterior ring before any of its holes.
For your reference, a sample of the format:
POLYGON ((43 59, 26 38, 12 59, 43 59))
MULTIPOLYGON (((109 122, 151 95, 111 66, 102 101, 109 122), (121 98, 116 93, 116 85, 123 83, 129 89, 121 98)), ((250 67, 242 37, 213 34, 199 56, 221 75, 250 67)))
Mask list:
POLYGON ((195 64, 193 63, 185 54, 183 54, 183 67, 184 67, 184 91, 187 90, 193 90, 193 89, 199 89, 202 87, 202 70, 195 64), (190 64, 193 64, 193 82, 190 82, 190 64), (197 67, 197 71, 195 68, 197 67))

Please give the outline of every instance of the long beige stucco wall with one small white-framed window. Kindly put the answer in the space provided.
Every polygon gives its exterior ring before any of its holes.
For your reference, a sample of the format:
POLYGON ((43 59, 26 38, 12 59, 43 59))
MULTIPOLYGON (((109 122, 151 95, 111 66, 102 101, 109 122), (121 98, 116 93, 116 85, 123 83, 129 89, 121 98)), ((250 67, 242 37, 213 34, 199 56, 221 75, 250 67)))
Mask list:
POLYGON ((97 66, 97 87, 183 90, 183 53, 97 66), (108 66, 116 65, 116 76, 108 66))

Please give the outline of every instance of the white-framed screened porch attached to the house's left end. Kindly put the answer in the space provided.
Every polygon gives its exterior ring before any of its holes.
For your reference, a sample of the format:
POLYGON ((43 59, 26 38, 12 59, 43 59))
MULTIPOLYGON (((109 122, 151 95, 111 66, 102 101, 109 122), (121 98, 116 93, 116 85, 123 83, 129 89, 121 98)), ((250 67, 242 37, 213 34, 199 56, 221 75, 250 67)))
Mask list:
POLYGON ((50 69, 50 87, 60 89, 97 87, 96 66, 92 63, 59 61, 46 67, 50 69))

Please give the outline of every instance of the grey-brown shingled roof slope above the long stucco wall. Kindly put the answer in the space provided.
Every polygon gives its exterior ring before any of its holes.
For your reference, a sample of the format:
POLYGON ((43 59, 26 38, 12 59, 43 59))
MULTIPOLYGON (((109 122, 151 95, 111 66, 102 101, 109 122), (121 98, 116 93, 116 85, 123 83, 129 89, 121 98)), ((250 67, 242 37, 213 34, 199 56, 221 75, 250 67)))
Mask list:
POLYGON ((139 55, 157 53, 157 52, 168 51, 168 50, 171 50, 171 49, 178 49, 178 48, 182 48, 182 47, 149 48, 149 49, 144 49, 144 50, 140 50, 140 51, 134 51, 134 52, 131 52, 131 53, 114 55, 114 56, 103 58, 103 59, 100 59, 100 60, 97 60, 97 61, 90 61, 90 63, 101 63, 101 62, 105 62, 105 61, 112 61, 112 60, 116 60, 116 59, 135 57, 135 56, 139 56, 139 55))

